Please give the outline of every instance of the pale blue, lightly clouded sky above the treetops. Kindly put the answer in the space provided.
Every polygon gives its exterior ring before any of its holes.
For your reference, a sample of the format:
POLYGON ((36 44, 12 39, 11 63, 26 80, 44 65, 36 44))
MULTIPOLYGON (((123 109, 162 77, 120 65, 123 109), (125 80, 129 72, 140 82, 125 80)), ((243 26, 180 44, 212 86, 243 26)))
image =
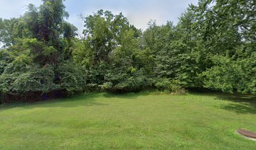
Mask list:
MULTIPOLYGON (((70 14, 68 22, 83 31, 83 21, 78 14, 88 16, 100 9, 122 12, 131 24, 139 29, 146 29, 147 22, 156 20, 158 25, 167 21, 178 22, 178 17, 189 4, 197 4, 198 0, 66 0, 66 11, 70 14)), ((19 17, 26 11, 29 4, 40 6, 41 0, 0 0, 0 17, 9 19, 19 17)))

